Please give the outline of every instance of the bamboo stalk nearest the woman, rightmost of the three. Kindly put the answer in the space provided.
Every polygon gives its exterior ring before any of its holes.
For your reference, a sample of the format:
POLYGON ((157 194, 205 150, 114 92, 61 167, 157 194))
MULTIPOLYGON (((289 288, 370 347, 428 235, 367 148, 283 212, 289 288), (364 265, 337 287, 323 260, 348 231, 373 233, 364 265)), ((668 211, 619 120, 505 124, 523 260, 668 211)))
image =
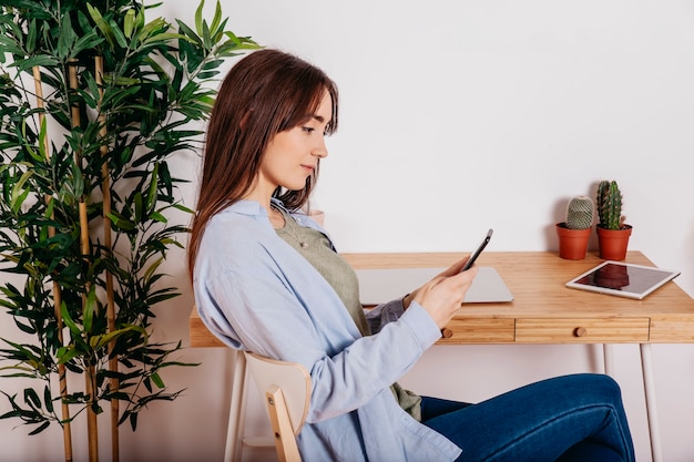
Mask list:
MULTIPOLYGON (((103 57, 94 58, 94 68, 95 68, 95 80, 96 85, 99 86, 99 121, 101 123, 101 136, 106 136, 108 127, 106 127, 106 116, 101 109, 101 101, 103 100, 103 57)), ((101 146, 101 155, 105 157, 109 153, 109 147, 104 144, 101 146)), ((111 185, 109 179, 109 164, 108 162, 103 162, 101 165, 101 193, 103 195, 103 243, 106 251, 111 253, 111 219, 109 218, 109 214, 111 213, 111 185)), ((110 255, 111 256, 111 255, 110 255)), ((106 279, 106 322, 109 332, 115 330, 115 300, 113 295, 113 275, 111 271, 106 270, 105 273, 106 279)), ((111 372, 118 372, 119 369, 119 360, 118 357, 113 356, 113 349, 115 345, 114 342, 109 343, 109 370, 111 372)), ((111 384, 111 391, 116 392, 120 388, 119 379, 112 377, 109 379, 109 383, 111 384)), ((120 403, 116 399, 111 399, 111 460, 113 462, 119 462, 120 460, 120 438, 119 438, 119 418, 120 418, 120 403)))

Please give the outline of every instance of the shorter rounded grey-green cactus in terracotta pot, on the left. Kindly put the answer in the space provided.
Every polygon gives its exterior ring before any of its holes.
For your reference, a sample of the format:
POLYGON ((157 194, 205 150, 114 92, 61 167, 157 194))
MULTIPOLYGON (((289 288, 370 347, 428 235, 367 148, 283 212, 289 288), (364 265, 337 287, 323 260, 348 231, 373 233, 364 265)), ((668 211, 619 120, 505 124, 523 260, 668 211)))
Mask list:
POLYGON ((585 258, 593 224, 593 201, 588 196, 576 196, 569 201, 567 220, 555 225, 560 257, 570 260, 585 258))

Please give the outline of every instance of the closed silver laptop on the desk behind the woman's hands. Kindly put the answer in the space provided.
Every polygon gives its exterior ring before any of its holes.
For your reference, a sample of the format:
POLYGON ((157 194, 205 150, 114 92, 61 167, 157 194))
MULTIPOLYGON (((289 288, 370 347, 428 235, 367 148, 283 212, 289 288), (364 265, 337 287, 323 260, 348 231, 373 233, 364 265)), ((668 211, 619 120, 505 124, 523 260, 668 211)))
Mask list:
MULTIPOLYGON (((359 299, 363 305, 378 305, 401 298, 420 287, 446 268, 357 269, 359 299)), ((491 266, 480 266, 466 294, 463 304, 498 304, 513 301, 513 295, 499 273, 491 266)))

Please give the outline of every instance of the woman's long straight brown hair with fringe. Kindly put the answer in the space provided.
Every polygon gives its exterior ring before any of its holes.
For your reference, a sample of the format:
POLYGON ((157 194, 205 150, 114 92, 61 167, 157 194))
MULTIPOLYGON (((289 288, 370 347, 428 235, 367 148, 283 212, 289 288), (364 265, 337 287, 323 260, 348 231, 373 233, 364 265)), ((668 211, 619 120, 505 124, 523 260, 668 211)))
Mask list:
MULTIPOLYGON (((207 222, 248 193, 273 136, 305 123, 326 90, 333 100, 326 129, 331 134, 337 130, 337 86, 320 69, 295 55, 266 49, 245 57, 228 72, 207 125, 197 212, 188 243, 191 278, 207 222)), ((303 189, 277 188, 273 196, 289 209, 300 208, 317 175, 318 168, 303 189)))

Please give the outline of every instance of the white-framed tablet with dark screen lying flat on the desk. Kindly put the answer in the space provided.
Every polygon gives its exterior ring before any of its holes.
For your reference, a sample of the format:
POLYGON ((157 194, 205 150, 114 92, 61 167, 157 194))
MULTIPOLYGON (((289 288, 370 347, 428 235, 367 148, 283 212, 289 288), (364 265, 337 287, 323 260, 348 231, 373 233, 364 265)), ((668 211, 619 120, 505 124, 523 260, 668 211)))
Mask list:
POLYGON ((678 275, 680 271, 608 260, 571 279, 567 287, 641 300, 678 275))

